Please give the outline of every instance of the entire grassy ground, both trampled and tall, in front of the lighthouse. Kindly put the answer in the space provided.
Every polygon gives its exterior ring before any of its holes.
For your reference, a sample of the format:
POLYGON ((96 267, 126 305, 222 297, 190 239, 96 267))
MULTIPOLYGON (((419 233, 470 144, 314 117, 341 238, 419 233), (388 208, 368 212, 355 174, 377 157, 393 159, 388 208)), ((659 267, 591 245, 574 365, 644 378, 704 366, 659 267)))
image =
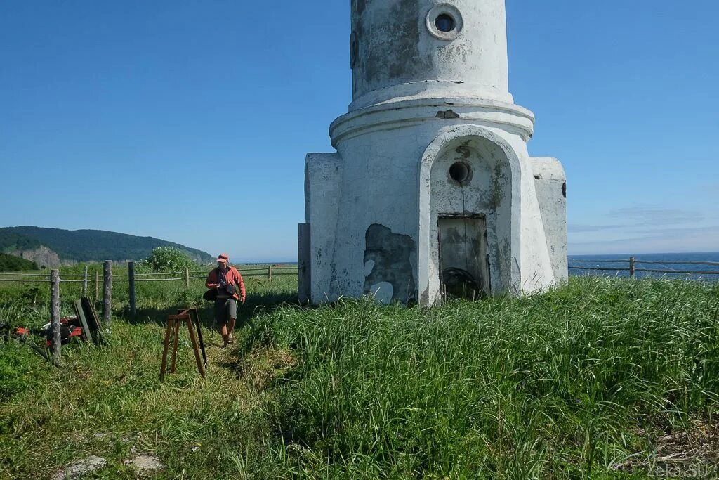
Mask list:
MULTIPOLYGON (((157 478, 716 476, 718 284, 574 278, 432 309, 247 286, 237 345, 205 330, 205 381, 187 341, 158 381, 168 312, 196 304, 211 326, 201 281, 140 285, 134 320, 116 289, 108 344, 66 346, 63 368, 1 340, 0 477, 95 455, 93 478, 134 478, 137 453, 160 458, 157 478)), ((45 322, 45 290, 0 286, 0 322, 45 322)), ((78 292, 63 285, 63 314, 78 292)))

